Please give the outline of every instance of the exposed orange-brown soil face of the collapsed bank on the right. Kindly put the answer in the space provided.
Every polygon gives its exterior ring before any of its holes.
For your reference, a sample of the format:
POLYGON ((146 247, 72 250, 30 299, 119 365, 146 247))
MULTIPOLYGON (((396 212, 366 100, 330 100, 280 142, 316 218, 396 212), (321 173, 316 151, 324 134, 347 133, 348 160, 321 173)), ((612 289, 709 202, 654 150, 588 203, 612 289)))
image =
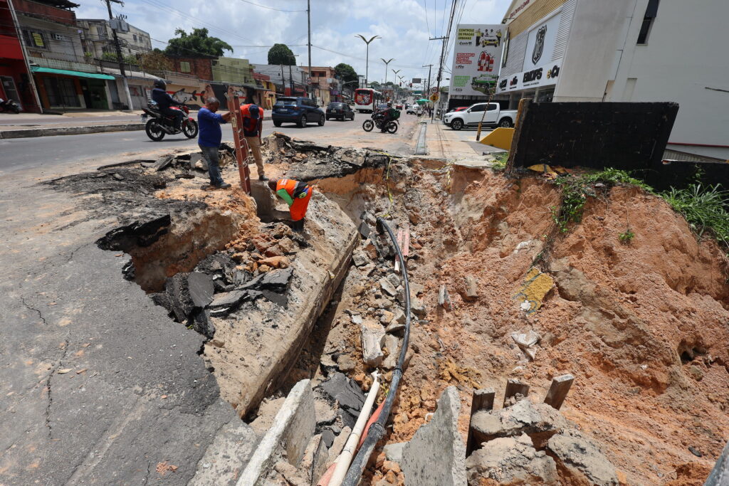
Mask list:
MULTIPOLYGON (((459 385, 465 437, 475 386, 502 393, 518 378, 544 396, 552 377, 569 372, 576 380, 562 411, 604 444, 619 478, 703 482, 729 434, 728 267, 713 240, 698 240, 663 200, 631 187, 590 199, 563 234, 551 216, 560 193, 545 181, 429 161, 386 173, 319 187, 353 217, 369 208, 410 224, 410 281, 423 286, 428 314, 413 324, 415 354, 388 442, 410 439, 447 385, 459 385), (635 237, 624 244, 628 227, 635 237), (515 296, 532 267, 554 286, 541 307, 523 310, 515 296), (477 299, 467 298, 468 275, 477 299), (442 283, 453 310, 437 305, 442 283), (511 337, 530 329, 541 336, 534 361, 511 337)), ((376 289, 357 290, 342 302, 376 307, 376 289)), ((359 327, 340 321, 361 363, 359 327)), ((366 386, 365 371, 358 364, 350 375, 366 386)))

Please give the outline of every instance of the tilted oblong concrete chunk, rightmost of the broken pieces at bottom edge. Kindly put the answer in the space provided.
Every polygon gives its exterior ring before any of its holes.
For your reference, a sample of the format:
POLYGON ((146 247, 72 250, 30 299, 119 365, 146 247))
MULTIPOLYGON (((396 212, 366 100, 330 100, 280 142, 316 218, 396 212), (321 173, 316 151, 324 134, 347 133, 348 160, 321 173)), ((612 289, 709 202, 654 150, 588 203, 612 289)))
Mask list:
POLYGON ((583 479, 585 484, 617 486, 615 466, 594 442, 579 431, 569 430, 549 439, 547 448, 573 477, 583 479))

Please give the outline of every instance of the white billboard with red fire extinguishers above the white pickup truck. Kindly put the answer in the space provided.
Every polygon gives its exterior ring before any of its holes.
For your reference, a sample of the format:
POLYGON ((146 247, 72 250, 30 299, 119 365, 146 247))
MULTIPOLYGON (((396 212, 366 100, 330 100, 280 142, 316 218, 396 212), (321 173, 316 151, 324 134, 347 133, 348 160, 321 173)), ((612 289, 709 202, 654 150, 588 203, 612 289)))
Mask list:
POLYGON ((453 47, 451 98, 484 96, 496 85, 506 26, 459 24, 453 47))

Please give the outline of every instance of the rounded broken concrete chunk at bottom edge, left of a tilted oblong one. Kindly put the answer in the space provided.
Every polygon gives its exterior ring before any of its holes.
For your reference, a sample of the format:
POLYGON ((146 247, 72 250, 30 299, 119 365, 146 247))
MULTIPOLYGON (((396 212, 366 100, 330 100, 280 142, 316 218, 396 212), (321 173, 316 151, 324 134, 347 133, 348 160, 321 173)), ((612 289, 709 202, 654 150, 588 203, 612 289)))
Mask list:
POLYGON ((500 485, 558 485, 557 465, 544 451, 535 450, 529 436, 494 439, 466 461, 469 484, 488 479, 500 485))

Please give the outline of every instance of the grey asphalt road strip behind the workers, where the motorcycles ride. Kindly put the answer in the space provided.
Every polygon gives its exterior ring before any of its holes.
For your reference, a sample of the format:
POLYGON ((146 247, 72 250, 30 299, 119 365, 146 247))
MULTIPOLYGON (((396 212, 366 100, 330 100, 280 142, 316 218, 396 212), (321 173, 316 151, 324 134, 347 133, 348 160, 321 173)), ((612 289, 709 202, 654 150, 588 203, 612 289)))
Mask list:
MULTIPOLYGON (((263 136, 268 136, 276 130, 295 138, 328 144, 349 145, 353 138, 361 138, 364 142, 370 141, 370 146, 378 146, 383 140, 397 139, 404 142, 405 136, 416 122, 416 117, 403 114, 401 129, 394 136, 390 136, 364 132, 362 122, 368 117, 367 114, 356 114, 354 122, 330 120, 323 127, 312 123, 306 128, 298 128, 295 125, 275 128, 273 122, 267 120, 263 123, 263 136)), ((225 128, 223 140, 230 140, 230 132, 226 132, 225 128)), ((134 157, 155 158, 158 154, 169 152, 170 149, 191 149, 195 146, 197 146, 196 138, 187 139, 182 134, 165 136, 163 141, 153 142, 147 138, 144 131, 0 139, 0 173, 22 168, 51 168, 68 162, 93 161, 95 165, 104 165, 134 157)))

